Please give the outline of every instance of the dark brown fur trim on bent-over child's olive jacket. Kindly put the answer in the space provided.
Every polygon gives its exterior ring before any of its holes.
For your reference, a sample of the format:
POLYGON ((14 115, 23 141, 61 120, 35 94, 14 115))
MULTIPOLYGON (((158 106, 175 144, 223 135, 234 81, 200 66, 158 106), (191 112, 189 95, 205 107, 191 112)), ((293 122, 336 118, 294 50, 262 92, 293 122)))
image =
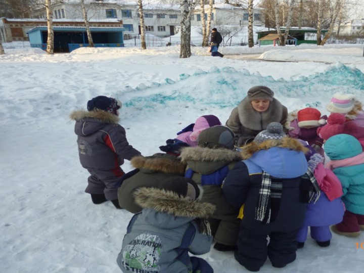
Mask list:
POLYGON ((148 169, 164 173, 184 174, 186 170, 186 163, 181 162, 178 157, 163 153, 146 157, 135 156, 130 162, 137 169, 148 169))

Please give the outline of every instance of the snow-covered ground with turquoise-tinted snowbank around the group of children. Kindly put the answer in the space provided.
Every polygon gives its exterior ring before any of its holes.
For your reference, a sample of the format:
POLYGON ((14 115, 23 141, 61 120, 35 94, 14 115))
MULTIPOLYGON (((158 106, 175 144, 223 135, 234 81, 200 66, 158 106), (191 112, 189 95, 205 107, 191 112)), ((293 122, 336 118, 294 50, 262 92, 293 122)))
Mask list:
MULTIPOLYGON (((253 85, 267 85, 289 111, 307 106, 323 114, 335 92, 364 102, 363 45, 221 48, 227 58, 192 48, 78 49, 49 56, 4 44, 0 56, 0 264, 1 271, 119 272, 116 257, 131 213, 111 202, 92 204, 68 114, 98 95, 123 102, 120 123, 143 155, 214 114, 224 123, 253 85), (240 60, 247 54, 259 59, 240 60), (237 56, 240 55, 240 56, 237 56), (267 61, 269 60, 269 61, 267 61)), ((123 165, 131 170, 129 162, 123 165)), ((308 239, 297 260, 260 272, 359 272, 358 238, 333 235, 329 248, 308 239)), ((233 253, 202 255, 215 272, 244 272, 233 253)))

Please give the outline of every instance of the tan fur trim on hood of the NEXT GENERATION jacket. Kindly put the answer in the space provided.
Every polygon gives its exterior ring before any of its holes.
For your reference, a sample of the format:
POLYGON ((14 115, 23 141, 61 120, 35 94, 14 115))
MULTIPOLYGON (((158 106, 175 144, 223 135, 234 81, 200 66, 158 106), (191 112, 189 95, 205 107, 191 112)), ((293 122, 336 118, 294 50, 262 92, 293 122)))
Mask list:
POLYGON ((134 193, 135 203, 142 208, 172 214, 176 217, 209 218, 215 206, 210 203, 192 201, 178 194, 157 188, 140 188, 134 193))

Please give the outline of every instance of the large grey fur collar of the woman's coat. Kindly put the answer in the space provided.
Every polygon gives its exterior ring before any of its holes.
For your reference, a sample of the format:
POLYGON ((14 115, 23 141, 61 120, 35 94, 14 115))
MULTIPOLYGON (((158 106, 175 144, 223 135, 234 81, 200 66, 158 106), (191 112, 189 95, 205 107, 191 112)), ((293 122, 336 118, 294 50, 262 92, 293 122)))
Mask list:
POLYGON ((281 122, 287 118, 287 112, 287 108, 275 98, 265 112, 255 111, 248 97, 238 105, 240 123, 251 130, 261 131, 266 129, 270 122, 281 122))

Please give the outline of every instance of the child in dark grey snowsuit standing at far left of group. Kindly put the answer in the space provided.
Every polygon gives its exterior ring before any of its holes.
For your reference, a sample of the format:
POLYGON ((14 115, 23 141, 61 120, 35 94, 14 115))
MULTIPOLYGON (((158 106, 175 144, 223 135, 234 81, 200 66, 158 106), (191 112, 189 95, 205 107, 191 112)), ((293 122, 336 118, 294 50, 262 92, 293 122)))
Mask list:
POLYGON ((87 110, 76 110, 70 118, 76 121, 78 155, 83 168, 90 173, 86 193, 94 204, 111 200, 120 208, 117 198, 120 165, 141 153, 126 140, 125 129, 118 124, 121 103, 114 98, 98 96, 87 102, 87 110))

